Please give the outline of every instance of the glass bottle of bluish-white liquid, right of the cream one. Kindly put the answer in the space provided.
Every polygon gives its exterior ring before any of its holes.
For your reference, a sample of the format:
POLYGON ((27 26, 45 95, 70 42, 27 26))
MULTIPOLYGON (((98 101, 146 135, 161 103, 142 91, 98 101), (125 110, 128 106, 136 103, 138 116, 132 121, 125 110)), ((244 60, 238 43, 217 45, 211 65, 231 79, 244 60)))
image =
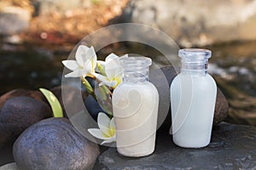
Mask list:
POLYGON ((185 148, 201 148, 210 143, 217 86, 207 73, 211 51, 184 48, 181 73, 171 85, 172 139, 185 148))

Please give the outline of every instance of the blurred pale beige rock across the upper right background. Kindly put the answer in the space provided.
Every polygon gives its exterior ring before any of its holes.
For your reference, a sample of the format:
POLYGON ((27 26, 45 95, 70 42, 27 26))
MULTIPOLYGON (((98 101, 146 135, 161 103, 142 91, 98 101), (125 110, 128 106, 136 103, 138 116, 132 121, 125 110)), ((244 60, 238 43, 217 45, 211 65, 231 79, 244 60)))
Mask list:
POLYGON ((119 20, 114 22, 157 27, 183 47, 255 40, 256 2, 131 0, 119 20))

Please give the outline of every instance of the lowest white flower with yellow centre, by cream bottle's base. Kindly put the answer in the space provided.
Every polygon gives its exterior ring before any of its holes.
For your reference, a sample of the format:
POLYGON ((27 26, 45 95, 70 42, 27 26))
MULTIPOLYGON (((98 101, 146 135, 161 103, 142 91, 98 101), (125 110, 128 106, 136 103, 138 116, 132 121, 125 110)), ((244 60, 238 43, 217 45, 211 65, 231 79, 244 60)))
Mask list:
POLYGON ((115 126, 113 118, 110 118, 105 114, 100 112, 97 118, 98 128, 89 128, 88 132, 96 137, 97 139, 103 139, 102 144, 111 143, 115 141, 115 126))

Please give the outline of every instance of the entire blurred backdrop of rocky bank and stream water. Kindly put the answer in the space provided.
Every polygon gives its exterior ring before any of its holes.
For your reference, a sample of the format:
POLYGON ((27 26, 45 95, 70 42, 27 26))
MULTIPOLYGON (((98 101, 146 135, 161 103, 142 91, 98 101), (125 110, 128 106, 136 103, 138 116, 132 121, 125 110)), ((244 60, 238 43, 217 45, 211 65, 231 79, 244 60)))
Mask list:
MULTIPOLYGON (((154 26, 180 48, 211 49, 209 71, 230 104, 226 121, 256 126, 253 0, 1 0, 0 94, 60 85, 61 60, 75 45, 99 28, 123 22, 154 26)), ((111 51, 161 57, 128 42, 111 44, 98 54, 111 51)))

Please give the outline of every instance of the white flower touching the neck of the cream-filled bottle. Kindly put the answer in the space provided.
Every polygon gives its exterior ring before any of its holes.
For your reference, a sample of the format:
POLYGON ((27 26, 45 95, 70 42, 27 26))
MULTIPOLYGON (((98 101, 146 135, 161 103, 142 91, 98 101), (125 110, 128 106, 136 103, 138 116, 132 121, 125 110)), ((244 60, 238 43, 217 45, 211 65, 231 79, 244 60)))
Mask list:
MULTIPOLYGON (((99 67, 102 66, 103 75, 94 73, 93 75, 100 81, 100 86, 107 85, 110 88, 116 88, 117 85, 119 85, 120 82, 122 82, 123 78, 123 70, 122 66, 120 65, 119 59, 128 57, 127 54, 125 54, 122 57, 117 56, 116 54, 109 54, 108 57, 104 61, 97 61, 97 65, 99 67)), ((100 70, 100 69, 98 69, 100 70)))

